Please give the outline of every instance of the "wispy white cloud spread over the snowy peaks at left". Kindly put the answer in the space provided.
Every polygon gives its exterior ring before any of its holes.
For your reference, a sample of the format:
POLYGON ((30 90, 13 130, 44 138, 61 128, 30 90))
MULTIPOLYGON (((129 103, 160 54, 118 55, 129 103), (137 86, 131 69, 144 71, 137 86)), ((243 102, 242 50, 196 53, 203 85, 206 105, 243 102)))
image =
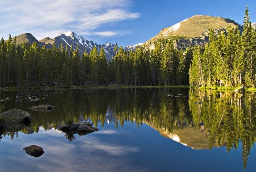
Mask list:
POLYGON ((97 31, 106 23, 137 19, 130 12, 131 0, 9 0, 1 2, 0 36, 32 32, 37 38, 53 37, 72 30, 78 34, 119 35, 119 31, 97 31), (48 34, 48 35, 47 35, 48 34))

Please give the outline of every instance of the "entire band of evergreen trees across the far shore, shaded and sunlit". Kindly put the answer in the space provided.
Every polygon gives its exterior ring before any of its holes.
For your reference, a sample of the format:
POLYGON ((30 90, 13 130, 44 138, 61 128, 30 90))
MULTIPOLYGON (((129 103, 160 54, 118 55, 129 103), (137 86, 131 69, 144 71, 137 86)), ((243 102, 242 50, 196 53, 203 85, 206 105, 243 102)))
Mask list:
POLYGON ((114 48, 106 60, 103 47, 79 56, 79 47, 53 45, 48 49, 22 43, 16 38, 0 41, 0 87, 87 85, 193 85, 248 86, 256 84, 256 33, 248 8, 243 32, 238 27, 209 32, 205 47, 178 50, 171 40, 156 43, 154 50, 114 48))

